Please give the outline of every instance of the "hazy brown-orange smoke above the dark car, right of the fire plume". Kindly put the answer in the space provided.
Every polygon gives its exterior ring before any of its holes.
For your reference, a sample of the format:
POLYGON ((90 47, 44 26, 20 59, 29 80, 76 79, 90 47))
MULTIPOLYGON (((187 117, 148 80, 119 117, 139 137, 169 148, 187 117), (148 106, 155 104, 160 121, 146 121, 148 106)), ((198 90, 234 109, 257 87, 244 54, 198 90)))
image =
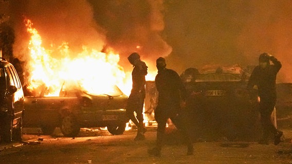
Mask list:
POLYGON ((267 52, 282 61, 278 82, 291 82, 291 1, 167 1, 169 67, 258 65, 267 52))

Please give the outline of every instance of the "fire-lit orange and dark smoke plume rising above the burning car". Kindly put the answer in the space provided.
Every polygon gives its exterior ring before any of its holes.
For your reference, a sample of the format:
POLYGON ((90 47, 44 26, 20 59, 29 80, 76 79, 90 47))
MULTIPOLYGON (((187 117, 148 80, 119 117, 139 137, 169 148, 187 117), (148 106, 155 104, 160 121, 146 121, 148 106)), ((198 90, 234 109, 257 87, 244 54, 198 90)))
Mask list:
MULTIPOLYGON (((161 37, 163 1, 9 1, 16 31, 14 54, 25 60, 27 36, 24 18, 39 31, 46 49, 68 43, 78 53, 82 46, 113 51, 121 65, 131 68, 127 56, 138 52, 147 63, 167 56, 172 48, 161 37)), ((153 67, 151 67, 153 68, 153 67)), ((154 67, 155 68, 155 67, 154 67)))

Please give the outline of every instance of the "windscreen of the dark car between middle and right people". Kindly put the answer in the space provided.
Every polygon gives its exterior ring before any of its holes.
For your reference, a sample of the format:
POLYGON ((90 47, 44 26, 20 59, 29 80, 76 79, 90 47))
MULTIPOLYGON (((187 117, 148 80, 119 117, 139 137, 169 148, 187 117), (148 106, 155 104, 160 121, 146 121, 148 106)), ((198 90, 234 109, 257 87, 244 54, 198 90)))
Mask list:
POLYGON ((207 73, 199 74, 196 82, 223 82, 223 81, 241 81, 241 74, 231 73, 207 73))

